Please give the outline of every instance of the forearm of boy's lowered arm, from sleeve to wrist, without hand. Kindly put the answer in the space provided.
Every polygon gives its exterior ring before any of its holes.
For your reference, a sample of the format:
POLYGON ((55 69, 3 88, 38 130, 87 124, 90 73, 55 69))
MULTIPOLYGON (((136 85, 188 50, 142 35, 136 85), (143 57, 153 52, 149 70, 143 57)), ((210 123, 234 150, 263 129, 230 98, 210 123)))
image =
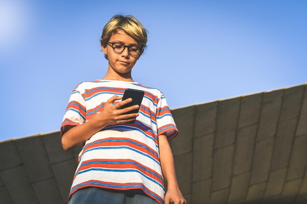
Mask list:
POLYGON ((167 182, 167 187, 169 188, 179 188, 178 181, 176 178, 174 157, 171 147, 166 139, 166 136, 159 136, 159 152, 160 152, 160 162, 163 172, 163 176, 167 182), (163 138, 163 140, 161 139, 163 138), (161 144, 162 143, 162 144, 161 144))

